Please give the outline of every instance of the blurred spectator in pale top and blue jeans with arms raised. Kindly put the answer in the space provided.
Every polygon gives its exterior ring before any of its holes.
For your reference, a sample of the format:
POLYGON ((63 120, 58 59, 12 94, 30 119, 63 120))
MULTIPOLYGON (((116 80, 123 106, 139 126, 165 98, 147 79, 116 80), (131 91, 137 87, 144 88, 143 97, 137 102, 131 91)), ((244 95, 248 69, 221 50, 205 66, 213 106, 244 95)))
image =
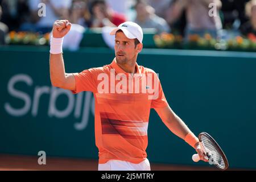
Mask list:
POLYGON ((175 2, 170 16, 173 21, 179 18, 182 10, 185 10, 187 19, 185 39, 187 40, 189 35, 204 36, 206 33, 213 38, 219 38, 222 29, 220 15, 218 14, 220 8, 220 0, 179 0, 175 2), (210 3, 216 5, 216 16, 209 16, 210 3))

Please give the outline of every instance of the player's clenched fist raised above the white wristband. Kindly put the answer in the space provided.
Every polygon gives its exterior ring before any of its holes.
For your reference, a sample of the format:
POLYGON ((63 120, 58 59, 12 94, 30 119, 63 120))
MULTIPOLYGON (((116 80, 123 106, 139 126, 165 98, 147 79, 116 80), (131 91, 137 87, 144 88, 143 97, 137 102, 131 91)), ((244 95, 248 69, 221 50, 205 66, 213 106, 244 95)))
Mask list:
POLYGON ((52 28, 53 38, 63 38, 71 29, 71 23, 68 20, 56 20, 52 28))

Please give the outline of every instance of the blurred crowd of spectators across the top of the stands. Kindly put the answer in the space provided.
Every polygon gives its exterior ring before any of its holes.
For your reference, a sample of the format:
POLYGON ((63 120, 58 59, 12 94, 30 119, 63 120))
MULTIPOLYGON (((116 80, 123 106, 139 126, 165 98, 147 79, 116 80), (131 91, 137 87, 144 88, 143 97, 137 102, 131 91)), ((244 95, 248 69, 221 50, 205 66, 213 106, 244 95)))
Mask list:
POLYGON ((56 19, 75 28, 114 27, 127 20, 156 34, 230 38, 256 35, 256 0, 0 0, 0 44, 10 31, 46 34, 56 19))

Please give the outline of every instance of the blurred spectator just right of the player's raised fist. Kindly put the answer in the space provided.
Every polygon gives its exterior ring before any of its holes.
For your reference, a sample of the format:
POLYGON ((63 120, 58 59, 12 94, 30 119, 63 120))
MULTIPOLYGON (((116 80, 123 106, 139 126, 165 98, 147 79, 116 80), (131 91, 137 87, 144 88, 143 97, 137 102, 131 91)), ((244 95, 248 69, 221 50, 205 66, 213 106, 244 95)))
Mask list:
POLYGON ((91 26, 91 15, 84 0, 73 0, 71 8, 70 22, 80 24, 81 26, 88 28, 91 26))

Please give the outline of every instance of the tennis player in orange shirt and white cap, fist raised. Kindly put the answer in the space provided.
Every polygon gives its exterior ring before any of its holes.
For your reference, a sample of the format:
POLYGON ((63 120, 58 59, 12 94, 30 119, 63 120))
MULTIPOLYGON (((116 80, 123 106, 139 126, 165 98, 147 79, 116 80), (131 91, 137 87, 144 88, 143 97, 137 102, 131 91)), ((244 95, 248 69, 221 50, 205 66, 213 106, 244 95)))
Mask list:
POLYGON ((53 24, 51 82, 74 94, 93 92, 98 170, 150 171, 146 148, 151 108, 172 133, 195 148, 200 159, 207 162, 199 139, 168 105, 156 73, 137 64, 138 53, 143 48, 142 28, 136 23, 125 22, 110 32, 115 36, 112 63, 80 73, 66 73, 62 43, 71 26, 68 20, 56 20, 53 24))

